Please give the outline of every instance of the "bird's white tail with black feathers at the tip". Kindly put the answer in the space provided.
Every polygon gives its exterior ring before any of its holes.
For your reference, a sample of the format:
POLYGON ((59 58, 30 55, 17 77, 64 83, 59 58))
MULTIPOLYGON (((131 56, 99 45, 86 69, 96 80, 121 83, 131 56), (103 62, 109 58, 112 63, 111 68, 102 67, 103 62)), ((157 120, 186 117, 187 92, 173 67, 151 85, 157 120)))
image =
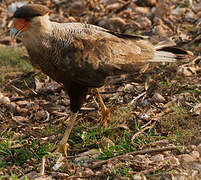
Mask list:
POLYGON ((156 45, 155 50, 155 56, 149 62, 176 62, 177 60, 189 60, 193 56, 192 52, 168 44, 156 45))

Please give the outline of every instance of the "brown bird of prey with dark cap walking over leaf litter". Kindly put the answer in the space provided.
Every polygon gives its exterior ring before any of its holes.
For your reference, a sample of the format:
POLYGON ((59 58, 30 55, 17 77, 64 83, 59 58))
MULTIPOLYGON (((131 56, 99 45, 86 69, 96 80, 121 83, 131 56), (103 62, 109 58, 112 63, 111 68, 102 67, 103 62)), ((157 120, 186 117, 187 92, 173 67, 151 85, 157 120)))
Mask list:
POLYGON ((90 90, 96 93, 105 126, 114 108, 107 108, 97 88, 108 77, 140 72, 151 62, 176 62, 189 53, 181 48, 86 23, 57 23, 50 10, 27 4, 13 14, 12 38, 20 37, 31 64, 63 85, 70 98, 71 116, 57 151, 67 154, 68 138, 90 90))

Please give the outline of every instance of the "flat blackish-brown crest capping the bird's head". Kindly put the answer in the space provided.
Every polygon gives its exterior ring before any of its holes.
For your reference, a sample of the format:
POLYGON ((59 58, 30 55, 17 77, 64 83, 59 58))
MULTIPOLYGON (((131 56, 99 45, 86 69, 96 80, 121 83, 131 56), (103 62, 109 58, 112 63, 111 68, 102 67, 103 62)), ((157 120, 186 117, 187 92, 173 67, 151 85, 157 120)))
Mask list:
POLYGON ((29 4, 18 8, 13 17, 15 18, 33 18, 36 16, 44 16, 49 13, 50 10, 46 6, 39 4, 29 4))

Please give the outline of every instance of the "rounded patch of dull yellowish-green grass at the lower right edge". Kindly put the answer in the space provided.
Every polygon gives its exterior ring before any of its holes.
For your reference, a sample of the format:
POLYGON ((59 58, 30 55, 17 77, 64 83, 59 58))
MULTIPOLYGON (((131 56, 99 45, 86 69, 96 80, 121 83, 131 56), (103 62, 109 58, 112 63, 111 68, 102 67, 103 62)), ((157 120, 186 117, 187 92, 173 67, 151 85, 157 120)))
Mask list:
POLYGON ((175 144, 188 144, 199 134, 200 123, 199 117, 193 117, 187 107, 175 105, 172 112, 161 119, 158 130, 175 144))

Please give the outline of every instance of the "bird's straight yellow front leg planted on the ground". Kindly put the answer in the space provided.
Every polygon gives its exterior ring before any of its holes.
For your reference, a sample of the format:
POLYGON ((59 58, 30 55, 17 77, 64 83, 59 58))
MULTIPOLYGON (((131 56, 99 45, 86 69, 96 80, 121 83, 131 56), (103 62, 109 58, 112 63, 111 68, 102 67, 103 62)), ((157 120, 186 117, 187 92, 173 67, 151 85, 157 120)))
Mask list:
POLYGON ((58 147, 56 149, 56 152, 64 152, 65 156, 67 156, 67 151, 68 151, 68 147, 69 147, 69 144, 67 143, 67 141, 68 141, 70 132, 73 128, 73 124, 77 118, 77 115, 78 115, 78 113, 71 114, 67 127, 66 127, 66 131, 64 133, 64 136, 63 136, 62 140, 59 142, 58 147))

